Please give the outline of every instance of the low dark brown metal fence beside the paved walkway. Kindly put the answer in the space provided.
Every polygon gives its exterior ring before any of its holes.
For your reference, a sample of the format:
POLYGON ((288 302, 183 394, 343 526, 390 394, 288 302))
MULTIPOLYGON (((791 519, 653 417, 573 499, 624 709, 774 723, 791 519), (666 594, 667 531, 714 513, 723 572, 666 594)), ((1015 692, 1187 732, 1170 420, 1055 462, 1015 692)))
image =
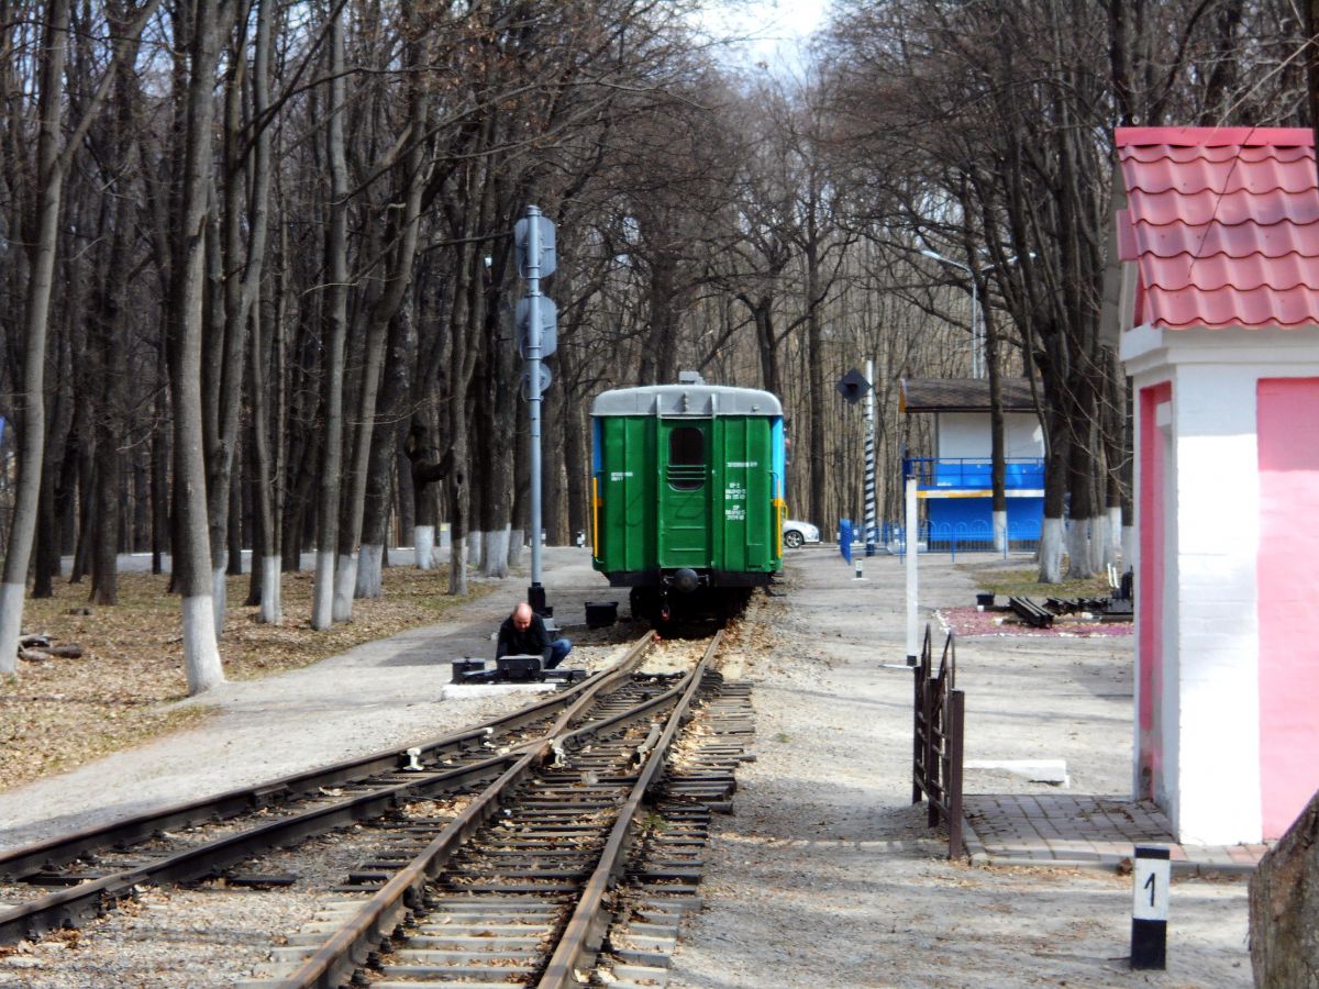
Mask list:
POLYGON ((943 642, 939 670, 934 673, 934 644, 925 626, 921 662, 913 671, 914 733, 911 760, 911 803, 929 803, 927 823, 939 819, 948 825, 948 858, 960 858, 962 840, 962 752, 966 725, 966 695, 956 690, 958 649, 952 633, 943 642))

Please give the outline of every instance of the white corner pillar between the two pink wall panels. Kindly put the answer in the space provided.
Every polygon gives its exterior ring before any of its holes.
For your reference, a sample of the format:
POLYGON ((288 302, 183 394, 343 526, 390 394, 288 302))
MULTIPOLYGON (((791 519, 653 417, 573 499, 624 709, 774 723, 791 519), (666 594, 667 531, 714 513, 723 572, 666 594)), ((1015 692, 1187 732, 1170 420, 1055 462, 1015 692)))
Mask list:
POLYGON ((1261 833, 1257 377, 1258 365, 1183 364, 1173 378, 1175 670, 1165 704, 1178 711, 1165 724, 1178 725, 1170 811, 1183 841, 1261 833))

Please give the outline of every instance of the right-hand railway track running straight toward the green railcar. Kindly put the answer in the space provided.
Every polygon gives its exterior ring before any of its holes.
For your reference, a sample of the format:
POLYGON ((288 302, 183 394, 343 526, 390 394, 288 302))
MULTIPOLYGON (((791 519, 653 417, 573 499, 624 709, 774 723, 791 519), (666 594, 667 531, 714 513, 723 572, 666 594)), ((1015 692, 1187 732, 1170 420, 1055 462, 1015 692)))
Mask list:
MULTIPOLYGON (((570 729, 574 712, 565 712, 550 737, 528 748, 458 818, 437 827, 410 862, 381 874, 369 898, 331 903, 313 930, 293 935, 291 947, 276 952, 294 965, 291 972, 247 985, 582 984, 611 919, 607 895, 617 898, 633 845, 642 851, 633 882, 660 884, 661 891, 679 897, 694 889, 689 884, 700 865, 694 856, 704 841, 707 802, 727 800, 732 766, 745 757, 740 745, 714 738, 692 742, 696 754, 685 770, 667 760, 698 694, 719 703, 723 684, 711 662, 721 638, 718 633, 696 667, 670 690, 612 717, 570 729), (665 833, 648 820, 653 812, 648 819, 640 814, 656 790, 663 791, 662 802, 653 806, 671 822, 665 833)), ((744 702, 745 688, 732 696, 744 702)), ((724 719, 731 731, 749 731, 749 711, 725 712, 724 719)), ((650 898, 632 913, 673 920, 682 902, 650 898)), ((636 952, 621 952, 615 971, 627 973, 636 952)))

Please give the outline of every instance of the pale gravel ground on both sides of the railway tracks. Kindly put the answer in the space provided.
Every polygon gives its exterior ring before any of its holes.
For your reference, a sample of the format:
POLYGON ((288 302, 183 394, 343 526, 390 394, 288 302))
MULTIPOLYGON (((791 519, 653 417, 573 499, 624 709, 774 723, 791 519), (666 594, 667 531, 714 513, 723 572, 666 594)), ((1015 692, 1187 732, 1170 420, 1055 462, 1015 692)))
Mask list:
MULTIPOLYGON (((923 558, 923 613, 972 603, 975 566, 923 558)), ((582 628, 584 601, 620 599, 625 613, 627 595, 607 588, 580 550, 549 551, 545 583, 579 641, 576 661, 595 662, 607 637, 582 628)), ((489 654, 525 584, 503 582, 442 625, 226 684, 204 698, 214 713, 198 727, 0 794, 0 848, 430 738, 524 703, 458 699, 445 687, 450 659, 489 654)), ((856 580, 819 547, 791 553, 786 583, 761 603, 766 628, 731 670, 754 686, 756 761, 740 771, 735 814, 718 819, 704 909, 685 923, 673 984, 1248 985, 1244 882, 1177 881, 1167 972, 1132 973, 1129 877, 946 861, 944 836, 910 803, 910 673, 888 669, 905 658, 902 595, 897 559, 867 560, 856 580)), ((1075 793, 1126 794, 1129 637, 966 637, 958 659, 968 760, 1064 758, 1075 793)), ((968 773, 967 789, 1049 791, 991 771, 968 773)), ((58 967, 58 956, 38 945, 25 964, 58 967)), ((116 984, 161 984, 148 967, 116 984)), ((21 984, 21 969, 0 960, 0 985, 21 984)))

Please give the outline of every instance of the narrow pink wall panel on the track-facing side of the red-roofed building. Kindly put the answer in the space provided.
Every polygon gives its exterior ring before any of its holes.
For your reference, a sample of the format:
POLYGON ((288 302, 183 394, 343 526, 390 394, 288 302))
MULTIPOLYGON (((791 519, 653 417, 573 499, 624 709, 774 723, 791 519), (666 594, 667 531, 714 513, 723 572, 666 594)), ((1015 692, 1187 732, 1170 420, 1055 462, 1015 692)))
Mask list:
POLYGON ((1159 711, 1163 700, 1163 510, 1167 492, 1163 433, 1158 427, 1157 409, 1171 398, 1171 381, 1141 389, 1141 572, 1136 582, 1138 599, 1136 607, 1140 614, 1137 676, 1141 707, 1137 712, 1140 782, 1136 795, 1144 799, 1154 799, 1155 781, 1159 781, 1163 773, 1159 711))

